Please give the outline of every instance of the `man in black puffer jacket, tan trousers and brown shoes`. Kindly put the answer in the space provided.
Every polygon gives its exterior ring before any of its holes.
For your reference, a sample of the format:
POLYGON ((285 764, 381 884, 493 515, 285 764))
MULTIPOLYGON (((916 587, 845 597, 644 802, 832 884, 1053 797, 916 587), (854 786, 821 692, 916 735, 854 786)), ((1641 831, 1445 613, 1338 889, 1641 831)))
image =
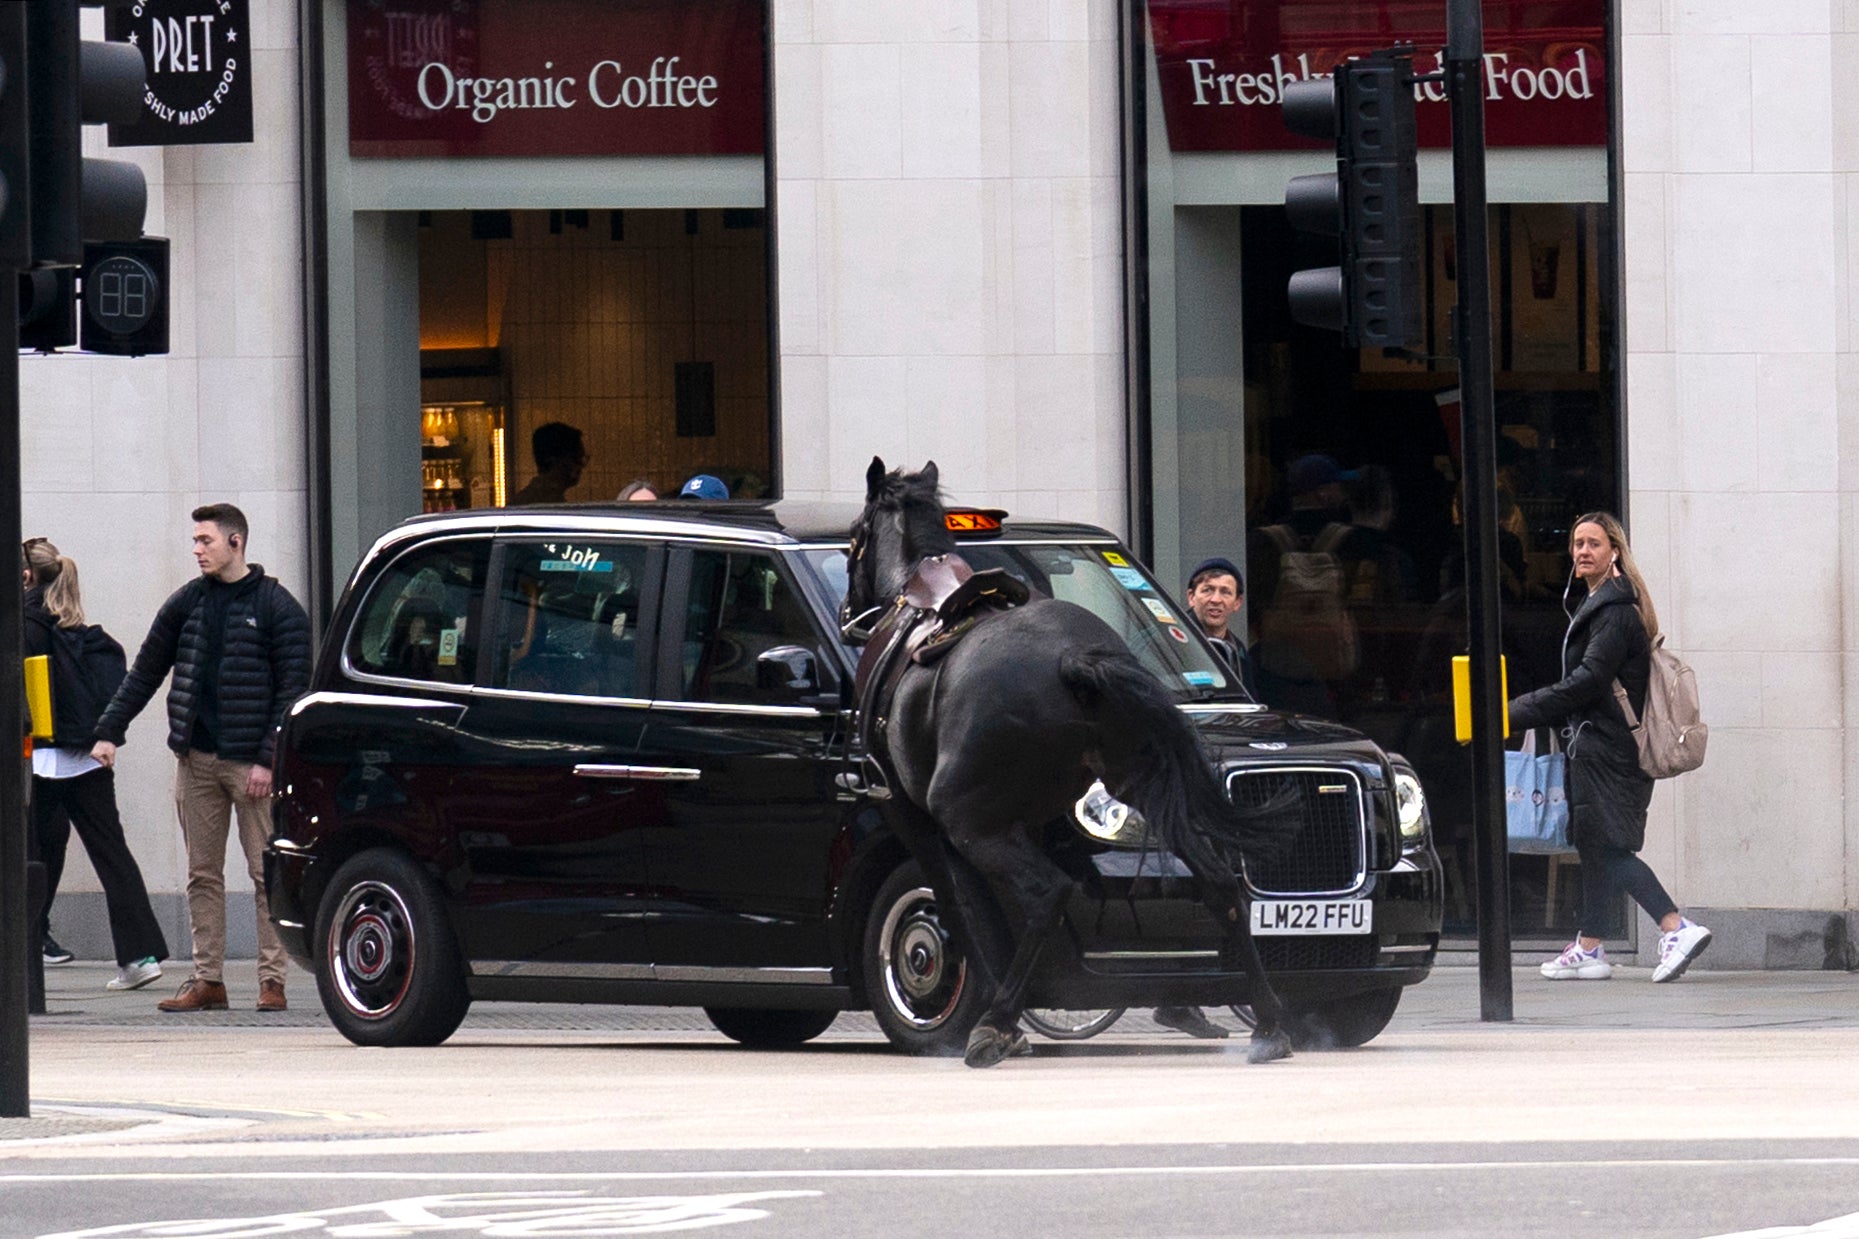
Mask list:
POLYGON ((149 627, 128 679, 97 722, 91 755, 115 765, 128 724, 167 672, 167 746, 180 759, 175 802, 188 843, 193 975, 160 1010, 225 1010, 227 832, 238 813, 258 904, 258 1010, 284 1010, 284 947, 264 899, 271 833, 271 746, 284 711, 310 683, 310 621, 297 599, 245 562, 245 513, 193 510, 195 580, 175 590, 149 627))

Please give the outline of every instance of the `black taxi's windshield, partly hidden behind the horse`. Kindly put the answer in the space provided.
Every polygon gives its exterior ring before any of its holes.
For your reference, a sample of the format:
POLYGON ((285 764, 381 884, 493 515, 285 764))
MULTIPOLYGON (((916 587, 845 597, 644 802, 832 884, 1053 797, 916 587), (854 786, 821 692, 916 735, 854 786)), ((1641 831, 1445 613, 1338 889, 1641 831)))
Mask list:
MULTIPOLYGON (((1047 597, 1084 606, 1182 699, 1246 698, 1233 672, 1201 640, 1193 618, 1119 547, 982 541, 963 543, 961 558, 976 571, 1002 567, 1047 597)), ((846 597, 846 553, 814 549, 805 560, 837 608, 846 597)))

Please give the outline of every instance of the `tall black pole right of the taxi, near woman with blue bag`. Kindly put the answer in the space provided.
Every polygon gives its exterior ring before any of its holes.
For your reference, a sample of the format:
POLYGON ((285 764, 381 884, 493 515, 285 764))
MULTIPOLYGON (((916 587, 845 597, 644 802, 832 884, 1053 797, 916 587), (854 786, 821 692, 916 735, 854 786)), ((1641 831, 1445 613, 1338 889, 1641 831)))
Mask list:
POLYGON ((1511 1018, 1510 846, 1504 837, 1504 681, 1498 672, 1496 409, 1491 385, 1491 249, 1485 220, 1483 13, 1446 0, 1452 208, 1459 262, 1459 417, 1465 618, 1472 670, 1472 856, 1478 869, 1478 1008, 1511 1018))

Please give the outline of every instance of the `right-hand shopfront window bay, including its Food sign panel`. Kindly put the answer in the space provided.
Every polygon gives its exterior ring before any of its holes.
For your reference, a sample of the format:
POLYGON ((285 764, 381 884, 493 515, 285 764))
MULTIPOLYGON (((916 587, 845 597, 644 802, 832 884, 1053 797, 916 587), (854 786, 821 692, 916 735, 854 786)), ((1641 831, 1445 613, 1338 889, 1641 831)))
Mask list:
MULTIPOLYGON (((1450 128, 1417 87, 1426 340, 1344 350, 1290 322, 1294 270, 1335 262, 1285 218, 1285 182, 1333 153, 1283 128, 1281 84, 1396 41, 1433 67, 1437 4, 1130 0, 1145 41, 1143 153, 1153 562, 1182 584, 1246 567, 1270 705, 1338 718, 1405 753, 1433 804, 1446 928, 1472 932, 1470 759, 1452 739, 1463 653, 1463 458, 1450 316, 1450 128), (1244 556, 1244 558, 1242 558, 1244 556)), ((1491 270, 1504 646, 1510 683, 1558 677, 1569 521, 1619 510, 1617 244, 1602 0, 1487 0, 1491 270)), ((1428 93, 1431 91, 1431 93, 1428 93)), ((1578 869, 1513 858, 1513 932, 1567 938, 1578 869)))

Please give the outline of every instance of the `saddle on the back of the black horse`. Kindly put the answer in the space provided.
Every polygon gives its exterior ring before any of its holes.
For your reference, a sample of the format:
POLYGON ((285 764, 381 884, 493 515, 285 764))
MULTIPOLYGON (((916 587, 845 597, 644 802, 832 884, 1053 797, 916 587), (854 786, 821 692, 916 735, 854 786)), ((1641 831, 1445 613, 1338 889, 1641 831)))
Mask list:
POLYGON ((870 752, 872 735, 883 729, 905 668, 930 666, 978 623, 1028 597, 1026 584, 1000 567, 978 573, 959 554, 922 560, 859 655, 853 683, 864 750, 870 752))

